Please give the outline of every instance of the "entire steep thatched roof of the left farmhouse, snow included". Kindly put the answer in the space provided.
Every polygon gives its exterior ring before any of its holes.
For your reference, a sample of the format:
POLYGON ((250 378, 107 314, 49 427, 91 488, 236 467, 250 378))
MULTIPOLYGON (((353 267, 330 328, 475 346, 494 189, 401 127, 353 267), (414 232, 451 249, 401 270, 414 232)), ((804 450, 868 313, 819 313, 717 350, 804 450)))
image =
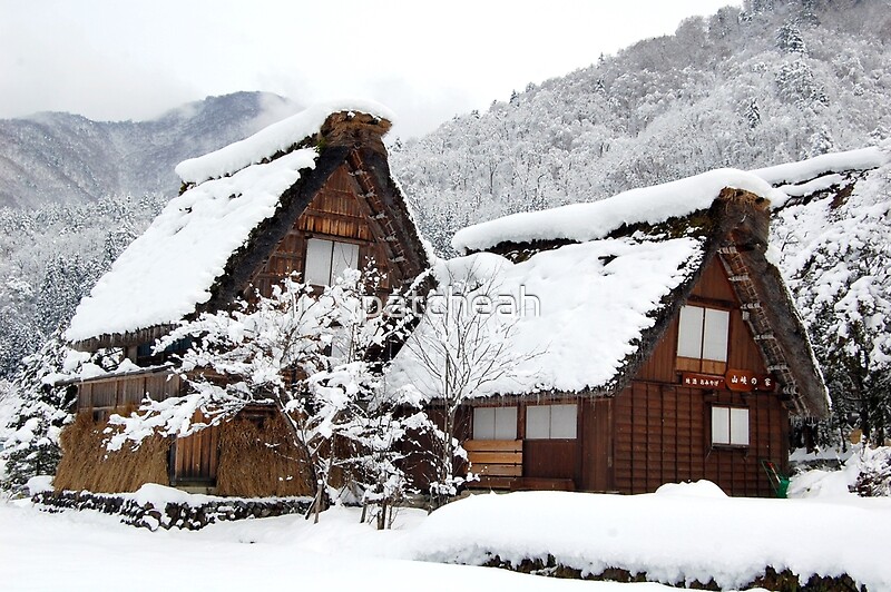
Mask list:
POLYGON ((177 167, 170 200, 80 303, 66 337, 81 349, 150 343, 183 318, 227 306, 346 165, 369 224, 403 278, 428 267, 425 246, 390 175, 384 108, 311 109, 177 167))

